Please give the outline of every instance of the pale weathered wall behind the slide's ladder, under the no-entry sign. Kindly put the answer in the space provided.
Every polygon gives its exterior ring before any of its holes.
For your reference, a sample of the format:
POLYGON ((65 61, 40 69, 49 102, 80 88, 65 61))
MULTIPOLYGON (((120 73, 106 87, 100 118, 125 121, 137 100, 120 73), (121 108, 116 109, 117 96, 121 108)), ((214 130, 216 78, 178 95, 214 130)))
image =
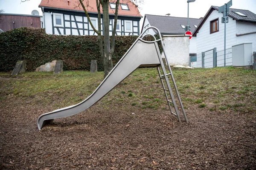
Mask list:
MULTIPOLYGON (((165 36, 163 38, 169 65, 189 65, 189 42, 188 36, 165 36)), ((162 58, 164 58, 163 53, 162 58)))

